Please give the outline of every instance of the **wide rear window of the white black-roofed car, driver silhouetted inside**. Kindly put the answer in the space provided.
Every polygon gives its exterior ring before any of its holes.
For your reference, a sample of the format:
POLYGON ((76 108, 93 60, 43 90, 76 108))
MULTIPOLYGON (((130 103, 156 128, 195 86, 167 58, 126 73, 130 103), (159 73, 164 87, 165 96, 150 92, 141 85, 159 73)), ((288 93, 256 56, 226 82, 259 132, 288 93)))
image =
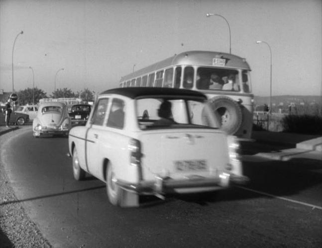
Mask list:
POLYGON ((137 99, 136 116, 140 129, 218 128, 220 126, 203 99, 137 99))

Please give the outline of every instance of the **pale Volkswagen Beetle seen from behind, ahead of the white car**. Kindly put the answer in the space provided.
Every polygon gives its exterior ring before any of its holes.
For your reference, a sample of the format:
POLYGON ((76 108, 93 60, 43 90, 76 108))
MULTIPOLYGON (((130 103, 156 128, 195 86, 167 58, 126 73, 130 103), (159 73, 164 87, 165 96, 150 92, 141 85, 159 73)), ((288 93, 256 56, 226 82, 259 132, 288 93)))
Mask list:
POLYGON ((45 102, 40 104, 37 117, 32 122, 33 135, 44 134, 67 135, 72 127, 67 106, 60 102, 45 102))

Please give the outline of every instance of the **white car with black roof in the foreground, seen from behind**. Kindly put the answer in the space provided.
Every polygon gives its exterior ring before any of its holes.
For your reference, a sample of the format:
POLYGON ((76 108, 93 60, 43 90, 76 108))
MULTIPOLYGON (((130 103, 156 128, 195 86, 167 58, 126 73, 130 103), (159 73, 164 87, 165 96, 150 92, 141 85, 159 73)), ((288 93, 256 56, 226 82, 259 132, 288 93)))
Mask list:
POLYGON ((200 92, 107 90, 87 124, 69 132, 74 177, 88 172, 106 182, 110 203, 122 207, 138 206, 139 195, 164 199, 245 182, 239 144, 219 126, 200 92))

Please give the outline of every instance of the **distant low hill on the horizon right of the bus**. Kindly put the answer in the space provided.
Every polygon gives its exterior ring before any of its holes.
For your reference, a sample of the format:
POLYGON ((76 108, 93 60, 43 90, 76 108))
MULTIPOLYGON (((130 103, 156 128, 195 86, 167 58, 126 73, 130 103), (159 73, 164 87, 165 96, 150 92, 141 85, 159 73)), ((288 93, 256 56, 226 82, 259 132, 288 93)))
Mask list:
MULTIPOLYGON (((267 104, 269 105, 270 97, 259 97, 254 96, 255 105, 260 106, 267 104)), ((293 95, 284 95, 284 96, 272 96, 272 105, 303 105, 303 104, 321 104, 321 96, 293 96, 293 95)))

